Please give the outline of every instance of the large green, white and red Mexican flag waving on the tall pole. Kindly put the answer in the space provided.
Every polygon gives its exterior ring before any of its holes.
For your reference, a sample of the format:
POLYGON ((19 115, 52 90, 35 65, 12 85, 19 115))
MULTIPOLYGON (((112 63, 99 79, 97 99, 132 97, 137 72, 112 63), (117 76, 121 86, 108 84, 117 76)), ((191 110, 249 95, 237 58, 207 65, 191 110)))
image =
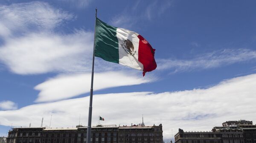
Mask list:
POLYGON ((116 28, 96 18, 95 56, 146 72, 157 68, 154 51, 136 32, 116 28))

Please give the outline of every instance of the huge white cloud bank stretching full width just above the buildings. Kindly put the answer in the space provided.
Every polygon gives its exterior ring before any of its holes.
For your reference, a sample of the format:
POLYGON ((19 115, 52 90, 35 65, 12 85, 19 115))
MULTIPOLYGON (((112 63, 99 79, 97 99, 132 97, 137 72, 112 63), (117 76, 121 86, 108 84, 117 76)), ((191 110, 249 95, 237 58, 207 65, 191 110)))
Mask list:
MULTIPOLYGON (((93 96, 93 120, 98 115, 103 124, 130 125, 140 123, 144 114, 146 125, 163 123, 163 137, 172 137, 178 128, 186 131, 209 131, 229 120, 256 121, 256 74, 222 81, 207 88, 166 93, 111 93, 93 96)), ((87 125, 89 97, 53 103, 34 104, 12 111, 0 111, 0 124, 9 126, 71 127, 87 125)))

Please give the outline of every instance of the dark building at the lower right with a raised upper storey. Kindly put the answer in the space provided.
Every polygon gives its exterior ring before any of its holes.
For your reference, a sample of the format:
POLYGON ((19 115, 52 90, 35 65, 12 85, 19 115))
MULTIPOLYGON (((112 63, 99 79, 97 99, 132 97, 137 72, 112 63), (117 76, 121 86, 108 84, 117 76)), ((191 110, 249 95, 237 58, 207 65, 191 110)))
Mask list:
POLYGON ((184 132, 179 129, 175 143, 256 143, 256 125, 252 121, 226 121, 210 132, 184 132))

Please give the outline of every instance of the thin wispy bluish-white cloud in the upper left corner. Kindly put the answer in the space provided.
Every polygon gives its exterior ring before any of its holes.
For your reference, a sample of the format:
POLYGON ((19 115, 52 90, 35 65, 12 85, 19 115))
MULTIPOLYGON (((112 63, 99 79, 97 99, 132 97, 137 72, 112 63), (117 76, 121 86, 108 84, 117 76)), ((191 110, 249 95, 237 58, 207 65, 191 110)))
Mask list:
POLYGON ((5 31, 5 36, 9 36, 10 31, 52 30, 74 18, 73 14, 38 1, 0 6, 0 17, 0 31, 5 31))

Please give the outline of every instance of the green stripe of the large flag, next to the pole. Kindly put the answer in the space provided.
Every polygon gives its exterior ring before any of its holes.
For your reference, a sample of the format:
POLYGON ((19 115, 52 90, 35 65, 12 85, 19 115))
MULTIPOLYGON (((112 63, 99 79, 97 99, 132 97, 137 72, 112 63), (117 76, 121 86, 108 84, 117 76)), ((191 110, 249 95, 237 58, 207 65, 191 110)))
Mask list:
POLYGON ((119 63, 118 39, 116 27, 96 18, 95 56, 108 62, 119 63))

